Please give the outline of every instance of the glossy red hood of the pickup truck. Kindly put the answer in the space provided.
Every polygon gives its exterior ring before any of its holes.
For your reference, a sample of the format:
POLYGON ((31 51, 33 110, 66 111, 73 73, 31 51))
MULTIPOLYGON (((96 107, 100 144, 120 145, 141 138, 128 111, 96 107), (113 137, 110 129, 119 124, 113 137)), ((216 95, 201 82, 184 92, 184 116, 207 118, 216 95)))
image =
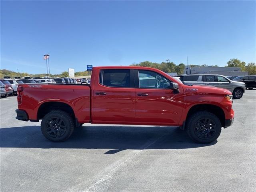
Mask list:
POLYGON ((184 86, 184 92, 186 93, 204 93, 204 94, 221 94, 221 95, 232 95, 232 93, 227 89, 222 89, 214 86, 204 86, 204 85, 193 85, 184 86))

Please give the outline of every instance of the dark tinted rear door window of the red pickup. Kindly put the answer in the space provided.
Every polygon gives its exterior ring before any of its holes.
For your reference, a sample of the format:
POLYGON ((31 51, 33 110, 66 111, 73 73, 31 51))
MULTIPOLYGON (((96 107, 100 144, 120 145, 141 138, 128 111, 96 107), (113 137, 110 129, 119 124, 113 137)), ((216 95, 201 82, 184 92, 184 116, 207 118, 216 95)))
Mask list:
POLYGON ((102 84, 110 87, 130 87, 130 69, 103 70, 102 84))

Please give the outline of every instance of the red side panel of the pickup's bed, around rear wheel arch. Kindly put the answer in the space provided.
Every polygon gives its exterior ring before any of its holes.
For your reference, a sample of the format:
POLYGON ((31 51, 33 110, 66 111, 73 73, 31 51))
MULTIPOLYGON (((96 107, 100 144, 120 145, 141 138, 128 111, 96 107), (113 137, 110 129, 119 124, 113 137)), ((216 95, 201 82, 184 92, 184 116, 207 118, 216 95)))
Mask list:
POLYGON ((72 108, 77 121, 90 122, 90 86, 84 84, 19 84, 22 107, 26 109, 30 120, 38 121, 38 110, 48 110, 56 102, 62 102, 72 108), (36 108, 35 108, 36 106, 36 108))

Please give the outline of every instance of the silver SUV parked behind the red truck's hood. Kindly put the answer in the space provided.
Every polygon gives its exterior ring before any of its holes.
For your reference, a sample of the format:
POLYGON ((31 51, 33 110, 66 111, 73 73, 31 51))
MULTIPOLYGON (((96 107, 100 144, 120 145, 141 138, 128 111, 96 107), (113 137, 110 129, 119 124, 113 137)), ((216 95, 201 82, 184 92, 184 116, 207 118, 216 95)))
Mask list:
POLYGON ((245 92, 245 84, 230 80, 222 75, 214 74, 195 74, 195 75, 177 75, 184 84, 203 84, 211 85, 230 90, 234 99, 242 98, 245 92))

